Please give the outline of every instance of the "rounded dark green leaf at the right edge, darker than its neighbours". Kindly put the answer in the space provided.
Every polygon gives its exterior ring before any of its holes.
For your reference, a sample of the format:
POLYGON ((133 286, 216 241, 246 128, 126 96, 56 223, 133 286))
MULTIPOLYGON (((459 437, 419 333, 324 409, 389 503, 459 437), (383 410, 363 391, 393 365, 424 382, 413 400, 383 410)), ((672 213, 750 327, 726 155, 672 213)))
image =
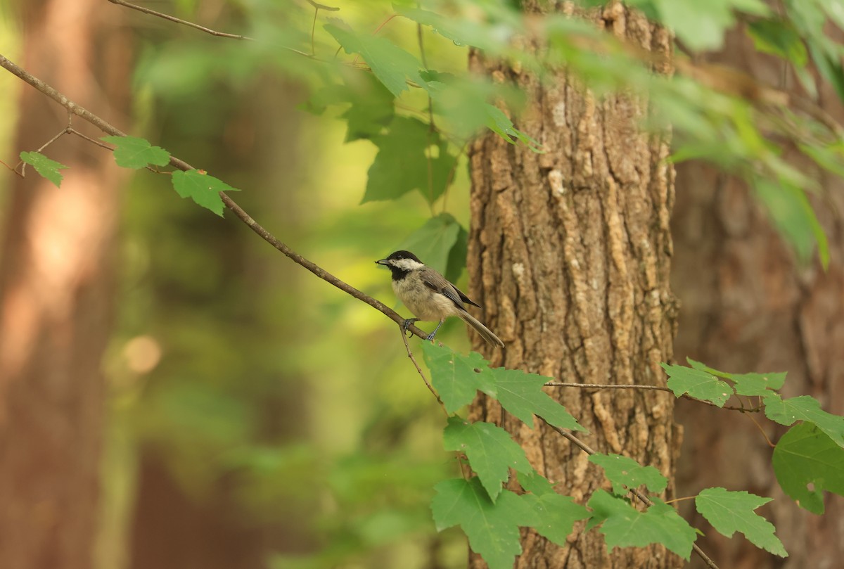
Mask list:
POLYGON ((789 429, 771 463, 782 490, 809 512, 824 513, 825 490, 844 496, 844 448, 813 423, 789 429))

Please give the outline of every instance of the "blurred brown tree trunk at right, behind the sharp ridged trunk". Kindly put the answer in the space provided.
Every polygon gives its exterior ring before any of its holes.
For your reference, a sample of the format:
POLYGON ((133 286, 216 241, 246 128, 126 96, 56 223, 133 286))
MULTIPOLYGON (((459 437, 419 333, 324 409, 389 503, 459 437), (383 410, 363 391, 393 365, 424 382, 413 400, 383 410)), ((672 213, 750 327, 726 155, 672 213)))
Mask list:
MULTIPOLYGON (((711 59, 800 92, 785 65, 760 55, 740 30, 728 35, 725 49, 711 59)), ((820 89, 820 104, 844 121, 829 85, 820 89)), ((790 154, 789 160, 812 171, 808 160, 790 154)), ((844 413, 844 183, 826 176, 825 192, 814 200, 830 238, 831 263, 824 272, 794 263, 741 182, 700 163, 679 165, 677 181, 683 188, 673 220, 673 284, 681 300, 678 359, 690 356, 724 371, 788 371, 787 396, 808 394, 831 413, 844 413)), ((828 496, 826 514, 818 517, 784 496, 771 469, 771 448, 748 416, 681 402, 678 417, 688 435, 679 464, 682 494, 718 485, 775 498, 760 513, 774 523, 789 553, 783 561, 743 537, 713 537, 698 519, 695 525, 707 535, 701 547, 714 561, 738 569, 841 566, 841 497, 828 496)), ((784 431, 764 418, 759 422, 775 442, 784 431)))

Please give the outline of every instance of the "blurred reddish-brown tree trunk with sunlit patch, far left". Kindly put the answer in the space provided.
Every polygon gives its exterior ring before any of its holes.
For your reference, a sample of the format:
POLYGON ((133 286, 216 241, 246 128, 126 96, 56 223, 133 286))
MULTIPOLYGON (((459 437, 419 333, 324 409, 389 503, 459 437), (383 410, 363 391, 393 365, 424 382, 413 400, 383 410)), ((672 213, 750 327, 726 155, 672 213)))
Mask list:
MULTIPOLYGON (((103 48, 101 2, 21 4, 25 68, 84 106, 127 106, 127 44, 115 34, 103 48)), ((61 107, 29 87, 17 114, 16 152, 38 149, 68 122, 61 107)), ((70 135, 44 153, 69 166, 61 188, 31 167, 25 179, 8 176, 14 182, 0 261, 0 566, 89 569, 119 175, 105 151, 70 135)))

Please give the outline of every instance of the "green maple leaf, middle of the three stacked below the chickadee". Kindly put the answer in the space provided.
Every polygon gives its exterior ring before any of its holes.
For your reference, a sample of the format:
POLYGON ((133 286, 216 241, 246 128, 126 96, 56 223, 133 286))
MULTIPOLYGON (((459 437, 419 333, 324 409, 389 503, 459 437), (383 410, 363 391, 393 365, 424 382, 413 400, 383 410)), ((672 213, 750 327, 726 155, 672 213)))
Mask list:
POLYGON ((500 494, 501 484, 510 477, 510 469, 518 472, 533 470, 525 458, 524 449, 512 440, 510 433, 491 423, 470 423, 459 417, 450 417, 443 441, 446 451, 466 454, 492 501, 500 494))

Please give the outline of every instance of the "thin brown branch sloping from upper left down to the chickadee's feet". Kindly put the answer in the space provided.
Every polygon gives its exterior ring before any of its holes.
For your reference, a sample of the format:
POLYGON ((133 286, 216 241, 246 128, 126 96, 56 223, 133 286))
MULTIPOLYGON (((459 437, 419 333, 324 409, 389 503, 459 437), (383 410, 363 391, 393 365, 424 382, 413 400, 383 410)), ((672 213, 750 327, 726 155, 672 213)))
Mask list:
MULTIPOLYGON (((123 133, 117 127, 111 125, 110 122, 96 116, 91 111, 88 111, 84 108, 84 106, 79 106, 74 103, 72 100, 68 99, 65 95, 53 89, 50 85, 41 81, 41 79, 36 78, 31 73, 28 73, 23 68, 20 68, 14 62, 10 61, 8 57, 4 57, 3 54, 0 54, 0 67, 8 70, 10 73, 18 76, 20 79, 24 80, 27 84, 30 84, 35 89, 38 89, 44 95, 50 97, 52 100, 55 100, 59 105, 63 106, 64 108, 68 109, 69 112, 77 115, 78 117, 82 117, 85 121, 90 122, 95 127, 99 128, 104 133, 111 134, 113 136, 127 136, 126 133, 123 133)), ((177 168, 182 171, 189 171, 194 170, 192 165, 189 165, 184 160, 176 158, 176 156, 170 156, 170 165, 174 168, 177 168)), ((223 203, 225 206, 232 211, 232 213, 237 216, 238 219, 241 219, 243 223, 249 226, 258 236, 260 236, 264 241, 267 241, 271 246, 278 249, 280 252, 284 253, 285 256, 289 257, 294 263, 308 269, 311 273, 316 274, 317 277, 326 281, 327 283, 336 286, 338 289, 343 290, 345 293, 354 296, 354 298, 358 299, 359 301, 363 301, 369 306, 372 306, 377 311, 382 312, 388 318, 390 318, 393 322, 397 324, 401 324, 404 322, 404 318, 401 317, 398 312, 392 310, 389 306, 385 305, 383 302, 378 301, 372 298, 370 295, 365 294, 364 292, 354 288, 354 286, 345 283, 344 281, 338 279, 333 274, 330 274, 324 268, 317 265, 317 263, 313 263, 312 261, 302 257, 299 253, 293 251, 290 247, 288 247, 284 242, 280 241, 277 237, 273 236, 268 230, 264 229, 262 225, 260 225, 255 219, 244 211, 241 206, 239 206, 233 199, 231 199, 225 192, 219 193, 220 198, 222 198, 223 203)), ((428 339, 428 334, 424 331, 420 330, 413 324, 408 326, 408 330, 413 333, 415 336, 419 336, 421 339, 428 339)))

